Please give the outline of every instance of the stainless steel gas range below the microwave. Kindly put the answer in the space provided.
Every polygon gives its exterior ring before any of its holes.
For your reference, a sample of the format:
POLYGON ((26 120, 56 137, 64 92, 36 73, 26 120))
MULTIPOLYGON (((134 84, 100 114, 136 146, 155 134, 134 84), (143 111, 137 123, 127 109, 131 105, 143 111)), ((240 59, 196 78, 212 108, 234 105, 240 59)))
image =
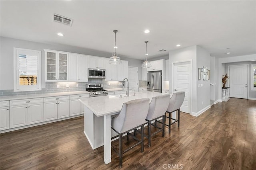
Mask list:
POLYGON ((108 91, 103 89, 102 84, 86 84, 86 91, 90 92, 90 98, 108 95, 108 91))

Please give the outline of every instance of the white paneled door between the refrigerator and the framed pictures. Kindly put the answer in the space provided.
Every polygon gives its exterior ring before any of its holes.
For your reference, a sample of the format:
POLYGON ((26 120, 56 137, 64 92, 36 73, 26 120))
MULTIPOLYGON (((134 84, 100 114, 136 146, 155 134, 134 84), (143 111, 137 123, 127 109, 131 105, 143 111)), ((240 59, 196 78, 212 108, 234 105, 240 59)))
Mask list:
POLYGON ((174 93, 185 92, 180 111, 190 114, 190 64, 174 64, 174 93))

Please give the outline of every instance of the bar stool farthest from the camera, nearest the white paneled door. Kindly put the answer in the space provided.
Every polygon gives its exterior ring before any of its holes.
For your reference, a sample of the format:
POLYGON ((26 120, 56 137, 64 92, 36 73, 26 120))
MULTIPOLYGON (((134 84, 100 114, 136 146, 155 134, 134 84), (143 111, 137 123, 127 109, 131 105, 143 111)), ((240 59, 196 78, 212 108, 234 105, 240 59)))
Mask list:
MULTIPOLYGON (((172 97, 170 98, 170 104, 166 111, 167 113, 169 113, 169 117, 165 116, 165 117, 169 118, 168 125, 165 124, 166 126, 169 127, 169 133, 171 133, 171 125, 173 123, 176 123, 178 121, 178 127, 180 127, 180 106, 184 102, 184 98, 185 98, 185 92, 174 93, 174 94, 172 94, 172 97), (171 113, 174 111, 178 111, 178 119, 174 119, 171 117, 171 113), (174 120, 174 121, 171 123, 171 120, 174 120)), ((165 121, 163 121, 163 122, 165 122, 165 121)))

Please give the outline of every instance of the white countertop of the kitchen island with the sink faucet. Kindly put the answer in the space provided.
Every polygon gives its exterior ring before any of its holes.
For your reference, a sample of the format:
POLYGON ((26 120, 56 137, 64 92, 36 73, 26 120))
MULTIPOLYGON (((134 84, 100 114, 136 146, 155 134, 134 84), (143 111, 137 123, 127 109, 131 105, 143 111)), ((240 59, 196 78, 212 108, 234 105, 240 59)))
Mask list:
POLYGON ((84 98, 79 100, 80 102, 82 102, 82 104, 88 107, 88 109, 90 109, 96 116, 100 117, 103 115, 121 111, 124 102, 141 98, 149 98, 149 100, 151 101, 154 96, 158 95, 162 95, 162 93, 143 91, 136 92, 135 96, 122 98, 120 98, 119 95, 108 95, 95 98, 84 98))

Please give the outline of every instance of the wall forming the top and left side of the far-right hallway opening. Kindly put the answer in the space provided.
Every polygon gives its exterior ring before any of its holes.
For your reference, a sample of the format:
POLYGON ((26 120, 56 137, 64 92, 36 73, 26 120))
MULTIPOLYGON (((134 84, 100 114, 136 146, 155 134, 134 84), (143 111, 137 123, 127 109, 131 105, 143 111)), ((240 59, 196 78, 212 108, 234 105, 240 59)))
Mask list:
POLYGON ((242 55, 242 56, 236 56, 236 57, 225 57, 225 58, 219 58, 218 59, 218 99, 219 101, 222 101, 221 97, 221 89, 222 89, 222 75, 226 72, 225 63, 234 63, 234 62, 242 62, 242 61, 252 61, 256 60, 256 54, 252 55, 242 55), (224 64, 224 66, 222 66, 224 64))

